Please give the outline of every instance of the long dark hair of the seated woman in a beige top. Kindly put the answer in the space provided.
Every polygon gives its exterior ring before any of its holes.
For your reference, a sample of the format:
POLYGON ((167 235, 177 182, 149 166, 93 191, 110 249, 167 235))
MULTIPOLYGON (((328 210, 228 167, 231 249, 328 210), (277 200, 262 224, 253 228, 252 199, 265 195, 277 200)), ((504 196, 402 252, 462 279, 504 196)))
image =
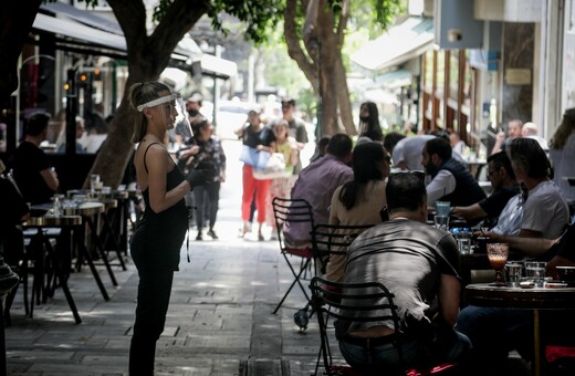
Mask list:
POLYGON ((384 178, 379 166, 386 154, 379 143, 365 143, 354 148, 352 161, 354 179, 344 184, 339 191, 339 201, 347 210, 355 206, 362 188, 369 180, 381 180, 384 178))

